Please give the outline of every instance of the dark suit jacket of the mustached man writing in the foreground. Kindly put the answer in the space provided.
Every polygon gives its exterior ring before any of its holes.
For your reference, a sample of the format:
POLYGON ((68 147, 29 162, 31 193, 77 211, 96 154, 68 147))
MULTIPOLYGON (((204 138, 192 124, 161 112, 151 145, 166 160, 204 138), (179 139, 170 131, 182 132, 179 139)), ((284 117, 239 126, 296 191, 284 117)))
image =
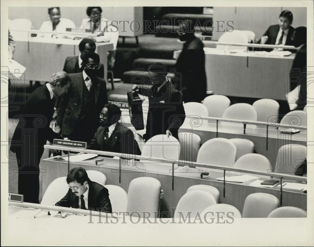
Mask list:
MULTIPOLYGON (((55 206, 78 208, 78 196, 69 189, 67 194, 57 202, 55 206)), ((108 190, 104 186, 93 181, 90 181, 89 183, 88 209, 104 213, 112 213, 108 190)))

